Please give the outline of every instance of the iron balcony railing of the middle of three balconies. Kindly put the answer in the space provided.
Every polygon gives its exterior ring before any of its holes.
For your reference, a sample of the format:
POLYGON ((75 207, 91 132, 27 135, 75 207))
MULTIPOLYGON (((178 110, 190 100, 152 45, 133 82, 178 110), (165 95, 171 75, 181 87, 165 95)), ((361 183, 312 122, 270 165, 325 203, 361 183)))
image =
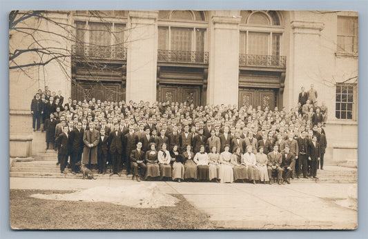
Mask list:
POLYGON ((182 50, 158 50, 157 61, 180 63, 209 63, 209 52, 191 52, 182 50))

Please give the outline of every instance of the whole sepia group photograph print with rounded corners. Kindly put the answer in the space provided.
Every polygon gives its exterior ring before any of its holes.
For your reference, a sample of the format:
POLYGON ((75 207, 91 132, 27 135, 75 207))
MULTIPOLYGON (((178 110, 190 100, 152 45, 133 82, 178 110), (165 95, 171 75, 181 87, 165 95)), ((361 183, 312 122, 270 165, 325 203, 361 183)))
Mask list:
POLYGON ((358 12, 8 19, 11 229, 358 228, 358 12))

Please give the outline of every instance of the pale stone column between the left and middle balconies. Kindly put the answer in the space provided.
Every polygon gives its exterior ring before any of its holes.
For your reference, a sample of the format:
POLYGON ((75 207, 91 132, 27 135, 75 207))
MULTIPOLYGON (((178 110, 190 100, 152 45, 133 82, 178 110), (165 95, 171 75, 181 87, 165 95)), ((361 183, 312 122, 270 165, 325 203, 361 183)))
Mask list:
POLYGON ((156 101, 158 11, 129 11, 126 101, 156 101))

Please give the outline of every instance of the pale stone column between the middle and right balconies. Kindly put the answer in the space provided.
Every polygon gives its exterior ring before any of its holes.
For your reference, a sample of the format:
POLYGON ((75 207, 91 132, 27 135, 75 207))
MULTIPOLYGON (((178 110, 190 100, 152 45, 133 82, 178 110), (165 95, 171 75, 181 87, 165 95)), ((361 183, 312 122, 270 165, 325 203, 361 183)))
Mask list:
POLYGON ((238 105, 240 11, 213 11, 208 104, 238 105))

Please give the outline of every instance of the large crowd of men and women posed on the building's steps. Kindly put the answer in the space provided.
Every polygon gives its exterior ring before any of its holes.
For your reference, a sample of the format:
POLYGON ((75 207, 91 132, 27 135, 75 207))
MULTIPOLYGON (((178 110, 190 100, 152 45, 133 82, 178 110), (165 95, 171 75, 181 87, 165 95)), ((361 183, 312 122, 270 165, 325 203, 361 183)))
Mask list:
POLYGON ((33 130, 46 132, 61 174, 79 165, 99 174, 139 180, 290 183, 317 178, 327 147, 327 107, 317 92, 299 94, 298 106, 195 106, 129 101, 64 102, 61 91, 39 90, 31 103, 33 130))

